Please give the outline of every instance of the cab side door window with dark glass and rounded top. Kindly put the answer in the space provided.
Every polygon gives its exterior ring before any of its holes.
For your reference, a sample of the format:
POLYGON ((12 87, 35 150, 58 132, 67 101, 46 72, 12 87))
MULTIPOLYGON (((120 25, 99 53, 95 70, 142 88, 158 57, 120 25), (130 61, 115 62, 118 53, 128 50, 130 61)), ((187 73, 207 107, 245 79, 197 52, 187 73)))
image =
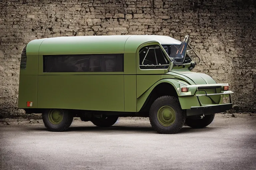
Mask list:
POLYGON ((141 69, 164 69, 170 62, 158 45, 145 46, 139 50, 141 69))

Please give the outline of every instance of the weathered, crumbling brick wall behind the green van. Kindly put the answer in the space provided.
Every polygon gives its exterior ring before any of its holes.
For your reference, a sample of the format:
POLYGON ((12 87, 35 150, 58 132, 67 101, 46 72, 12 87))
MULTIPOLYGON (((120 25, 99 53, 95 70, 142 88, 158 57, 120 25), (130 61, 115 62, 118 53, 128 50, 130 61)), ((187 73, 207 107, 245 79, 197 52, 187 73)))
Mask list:
POLYGON ((190 43, 194 69, 229 83, 242 112, 256 111, 256 3, 253 0, 0 1, 0 108, 16 108, 22 48, 57 36, 155 34, 190 43))

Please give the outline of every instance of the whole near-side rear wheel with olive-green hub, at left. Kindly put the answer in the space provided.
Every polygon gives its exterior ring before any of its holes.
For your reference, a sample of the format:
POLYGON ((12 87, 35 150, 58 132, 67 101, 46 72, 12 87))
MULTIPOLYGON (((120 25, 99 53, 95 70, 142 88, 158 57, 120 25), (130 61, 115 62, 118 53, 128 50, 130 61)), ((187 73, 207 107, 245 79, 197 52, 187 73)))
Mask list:
POLYGON ((65 131, 70 127, 73 121, 73 115, 68 113, 67 110, 50 109, 45 110, 42 114, 44 126, 49 131, 65 131))

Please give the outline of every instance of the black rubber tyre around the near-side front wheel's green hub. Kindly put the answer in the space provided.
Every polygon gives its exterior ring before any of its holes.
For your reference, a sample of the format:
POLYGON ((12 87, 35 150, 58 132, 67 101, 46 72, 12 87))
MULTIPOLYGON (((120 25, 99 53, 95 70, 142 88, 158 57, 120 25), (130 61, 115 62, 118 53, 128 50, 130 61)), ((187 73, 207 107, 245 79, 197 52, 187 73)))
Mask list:
POLYGON ((185 123, 185 114, 181 109, 179 100, 173 96, 162 96, 157 98, 149 111, 150 124, 160 134, 175 134, 185 123), (158 110, 163 106, 169 106, 175 111, 176 119, 170 126, 163 126, 157 118, 158 110))

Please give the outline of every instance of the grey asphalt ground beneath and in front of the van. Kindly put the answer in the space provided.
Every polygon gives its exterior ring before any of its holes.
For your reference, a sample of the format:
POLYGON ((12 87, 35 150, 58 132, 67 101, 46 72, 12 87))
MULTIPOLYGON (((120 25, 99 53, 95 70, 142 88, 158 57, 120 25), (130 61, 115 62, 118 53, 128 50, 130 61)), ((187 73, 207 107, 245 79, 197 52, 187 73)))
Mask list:
POLYGON ((256 169, 256 114, 234 115, 177 134, 156 133, 148 118, 119 118, 109 128, 74 118, 66 132, 47 131, 42 120, 2 120, 0 169, 256 169))

